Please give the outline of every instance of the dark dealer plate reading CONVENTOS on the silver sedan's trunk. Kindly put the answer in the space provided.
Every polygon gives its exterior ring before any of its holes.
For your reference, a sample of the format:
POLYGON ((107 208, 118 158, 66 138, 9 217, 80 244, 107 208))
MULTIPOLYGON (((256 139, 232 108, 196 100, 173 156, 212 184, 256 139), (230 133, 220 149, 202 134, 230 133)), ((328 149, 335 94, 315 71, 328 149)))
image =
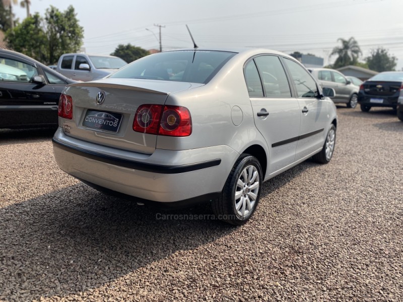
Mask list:
POLYGON ((121 121, 122 115, 120 113, 87 110, 83 120, 83 126, 117 132, 121 121))

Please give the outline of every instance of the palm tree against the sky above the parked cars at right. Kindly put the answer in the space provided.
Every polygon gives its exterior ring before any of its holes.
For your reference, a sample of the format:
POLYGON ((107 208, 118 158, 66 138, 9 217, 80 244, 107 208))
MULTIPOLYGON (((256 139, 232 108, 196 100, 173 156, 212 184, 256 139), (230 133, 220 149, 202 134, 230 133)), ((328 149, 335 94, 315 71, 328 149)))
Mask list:
POLYGON ((338 39, 342 42, 342 46, 336 46, 333 48, 330 56, 337 54, 338 58, 333 64, 333 68, 339 68, 347 65, 354 65, 358 62, 358 57, 362 54, 360 46, 358 46, 357 41, 351 37, 348 40, 338 39))

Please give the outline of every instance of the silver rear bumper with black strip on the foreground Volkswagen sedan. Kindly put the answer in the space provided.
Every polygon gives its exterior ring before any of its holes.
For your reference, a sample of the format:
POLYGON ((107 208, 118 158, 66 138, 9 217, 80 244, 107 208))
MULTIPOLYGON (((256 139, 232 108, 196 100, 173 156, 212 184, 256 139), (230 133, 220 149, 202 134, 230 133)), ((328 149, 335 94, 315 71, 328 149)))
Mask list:
POLYGON ((221 192, 239 154, 228 146, 191 150, 156 149, 149 156, 126 152, 66 136, 59 128, 53 152, 61 170, 112 191, 157 202, 179 202, 221 192), (166 165, 163 163, 169 163, 166 165))

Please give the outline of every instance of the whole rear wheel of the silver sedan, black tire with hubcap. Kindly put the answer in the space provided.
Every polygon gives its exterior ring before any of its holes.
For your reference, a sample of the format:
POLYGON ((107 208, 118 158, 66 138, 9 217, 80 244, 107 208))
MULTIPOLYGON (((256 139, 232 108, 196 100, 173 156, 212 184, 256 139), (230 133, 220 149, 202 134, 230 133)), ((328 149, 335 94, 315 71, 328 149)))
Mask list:
POLYGON ((254 156, 241 155, 225 182, 221 198, 212 203, 216 217, 234 225, 246 223, 257 207, 262 183, 259 161, 254 156))

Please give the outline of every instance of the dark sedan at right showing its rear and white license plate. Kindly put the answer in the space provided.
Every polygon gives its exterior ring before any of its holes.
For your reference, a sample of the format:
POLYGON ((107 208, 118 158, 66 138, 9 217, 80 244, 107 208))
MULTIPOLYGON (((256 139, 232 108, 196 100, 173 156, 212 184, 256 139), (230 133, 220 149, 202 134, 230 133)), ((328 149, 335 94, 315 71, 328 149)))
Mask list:
POLYGON ((403 96, 403 72, 385 71, 374 75, 360 86, 358 103, 362 111, 371 107, 397 108, 399 96, 403 96))

